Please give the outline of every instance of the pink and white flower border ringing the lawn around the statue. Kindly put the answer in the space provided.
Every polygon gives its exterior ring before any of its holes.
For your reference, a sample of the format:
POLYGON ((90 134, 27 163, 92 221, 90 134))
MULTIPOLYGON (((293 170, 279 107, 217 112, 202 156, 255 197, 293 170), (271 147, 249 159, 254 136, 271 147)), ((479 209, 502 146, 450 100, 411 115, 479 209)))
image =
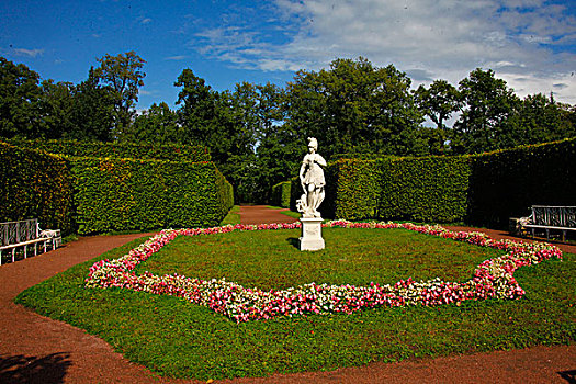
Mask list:
POLYGON ((450 231, 440 226, 418 226, 410 223, 350 223, 334 221, 325 227, 404 228, 426 235, 465 241, 481 247, 505 250, 507 253, 482 262, 471 280, 444 282, 440 279, 416 282, 400 280, 394 285, 371 283, 369 286, 309 283, 282 291, 247 289, 225 279, 200 280, 179 274, 135 274, 140 262, 160 250, 177 236, 199 236, 233 230, 295 229, 300 223, 236 225, 215 228, 166 229, 127 255, 102 260, 90 268, 86 280, 89 287, 123 287, 155 294, 169 294, 204 305, 236 321, 268 319, 275 316, 352 313, 376 306, 441 305, 466 300, 518 298, 524 294, 513 278, 515 271, 550 258, 562 258, 562 251, 543 242, 494 240, 482 233, 450 231))

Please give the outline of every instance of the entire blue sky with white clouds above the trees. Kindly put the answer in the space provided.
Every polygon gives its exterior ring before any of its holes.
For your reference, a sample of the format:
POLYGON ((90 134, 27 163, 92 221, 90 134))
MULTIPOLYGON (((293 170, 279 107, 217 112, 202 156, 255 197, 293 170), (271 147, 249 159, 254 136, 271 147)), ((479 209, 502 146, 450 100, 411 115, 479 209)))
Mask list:
POLYGON ((147 64, 137 108, 174 104, 184 68, 222 91, 241 81, 284 87, 298 69, 363 56, 414 86, 458 84, 492 68, 519 95, 576 104, 575 1, 271 0, 0 3, 0 56, 43 79, 78 83, 105 54, 147 64))

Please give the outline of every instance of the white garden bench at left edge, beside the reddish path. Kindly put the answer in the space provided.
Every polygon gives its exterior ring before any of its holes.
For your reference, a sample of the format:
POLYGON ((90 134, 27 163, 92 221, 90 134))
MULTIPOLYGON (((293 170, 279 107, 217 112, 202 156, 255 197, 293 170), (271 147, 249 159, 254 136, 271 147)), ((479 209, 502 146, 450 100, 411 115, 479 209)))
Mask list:
POLYGON ((34 246, 34 256, 38 255, 38 245, 42 252, 46 252, 49 247, 56 249, 61 246, 60 229, 42 230, 37 218, 0 223, 0 266, 3 251, 11 251, 14 262, 19 248, 24 250, 24 258, 27 258, 30 246, 34 246))

